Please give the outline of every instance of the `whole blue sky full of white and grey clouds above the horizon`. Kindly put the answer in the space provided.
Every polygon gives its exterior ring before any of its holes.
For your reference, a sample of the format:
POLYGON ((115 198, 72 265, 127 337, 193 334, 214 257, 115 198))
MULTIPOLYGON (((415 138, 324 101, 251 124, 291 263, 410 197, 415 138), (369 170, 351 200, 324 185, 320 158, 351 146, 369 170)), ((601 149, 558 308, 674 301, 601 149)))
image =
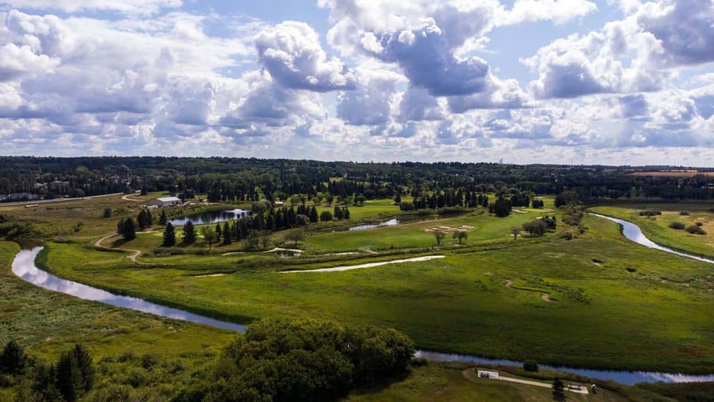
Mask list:
POLYGON ((0 155, 714 166, 714 0, 0 0, 0 155))

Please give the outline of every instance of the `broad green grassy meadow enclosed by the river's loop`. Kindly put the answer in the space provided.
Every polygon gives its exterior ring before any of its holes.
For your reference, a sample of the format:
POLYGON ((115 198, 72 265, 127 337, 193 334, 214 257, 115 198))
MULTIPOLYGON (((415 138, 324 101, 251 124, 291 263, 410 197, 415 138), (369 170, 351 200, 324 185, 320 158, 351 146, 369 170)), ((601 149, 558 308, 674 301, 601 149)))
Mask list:
MULTIPOLYGON (((503 225, 496 217, 476 219, 485 220, 483 231, 490 222, 503 225)), ((519 217, 503 221, 512 219, 519 217)), ((513 247, 488 253, 442 250, 441 260, 341 273, 276 273, 277 259, 256 268, 247 261, 254 257, 242 255, 144 258, 171 263, 146 268, 118 253, 59 243, 50 245, 48 262, 65 278, 241 322, 333 318, 393 326, 425 349, 593 368, 714 371, 714 267, 633 245, 611 222, 586 217, 585 224, 585 235, 570 242, 510 240, 513 247), (191 276, 217 268, 236 273, 191 276)), ((388 238, 382 233, 389 230, 335 235, 388 238)))

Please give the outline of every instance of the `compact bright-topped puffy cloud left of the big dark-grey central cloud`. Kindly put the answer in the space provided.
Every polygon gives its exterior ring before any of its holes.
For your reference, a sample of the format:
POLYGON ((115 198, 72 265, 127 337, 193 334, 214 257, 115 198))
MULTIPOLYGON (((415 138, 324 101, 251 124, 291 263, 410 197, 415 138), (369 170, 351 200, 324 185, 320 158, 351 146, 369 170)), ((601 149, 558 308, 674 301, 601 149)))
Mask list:
POLYGON ((336 57, 328 57, 318 34, 304 22, 286 21, 256 38, 261 64, 288 88, 326 92, 353 89, 353 73, 336 57))

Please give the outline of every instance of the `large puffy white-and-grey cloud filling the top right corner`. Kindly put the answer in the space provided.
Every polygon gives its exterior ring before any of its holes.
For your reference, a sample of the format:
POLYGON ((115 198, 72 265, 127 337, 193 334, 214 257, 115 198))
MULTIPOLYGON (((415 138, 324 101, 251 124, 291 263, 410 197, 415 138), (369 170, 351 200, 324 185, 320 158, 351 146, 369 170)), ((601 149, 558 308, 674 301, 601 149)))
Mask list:
POLYGON ((608 92, 653 92, 675 77, 673 67, 714 61, 714 2, 628 3, 621 21, 570 35, 521 59, 538 72, 536 97, 573 98, 608 92))

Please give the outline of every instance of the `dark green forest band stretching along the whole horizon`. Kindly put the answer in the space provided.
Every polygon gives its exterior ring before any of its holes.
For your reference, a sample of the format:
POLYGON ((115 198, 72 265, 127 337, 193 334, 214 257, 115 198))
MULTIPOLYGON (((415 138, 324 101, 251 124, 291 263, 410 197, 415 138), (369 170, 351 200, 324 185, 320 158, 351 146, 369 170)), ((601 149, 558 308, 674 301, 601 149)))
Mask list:
MULTIPOLYGON (((211 201, 340 197, 353 203, 403 195, 413 208, 476 205, 501 192, 513 206, 531 194, 575 190, 581 201, 604 198, 714 199, 714 170, 642 175, 664 167, 503 165, 493 163, 353 163, 189 157, 0 157, 0 202, 86 197, 142 190, 211 201), (481 200, 483 201, 483 200, 481 200)), ((406 206, 406 208, 411 208, 406 206)))

